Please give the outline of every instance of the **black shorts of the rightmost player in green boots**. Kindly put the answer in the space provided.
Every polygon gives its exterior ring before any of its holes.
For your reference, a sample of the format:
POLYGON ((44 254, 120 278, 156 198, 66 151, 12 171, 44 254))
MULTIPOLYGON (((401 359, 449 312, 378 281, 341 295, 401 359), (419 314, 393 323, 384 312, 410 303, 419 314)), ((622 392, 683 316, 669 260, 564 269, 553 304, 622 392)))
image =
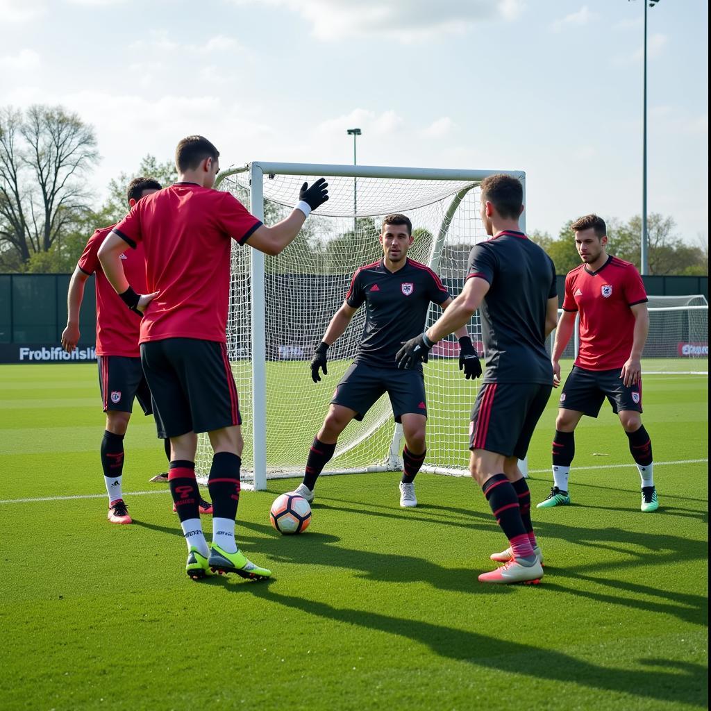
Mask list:
POLYGON ((620 378, 621 370, 585 370, 573 365, 560 393, 558 407, 597 417, 607 398, 615 414, 621 410, 642 412, 642 381, 626 387, 620 378))

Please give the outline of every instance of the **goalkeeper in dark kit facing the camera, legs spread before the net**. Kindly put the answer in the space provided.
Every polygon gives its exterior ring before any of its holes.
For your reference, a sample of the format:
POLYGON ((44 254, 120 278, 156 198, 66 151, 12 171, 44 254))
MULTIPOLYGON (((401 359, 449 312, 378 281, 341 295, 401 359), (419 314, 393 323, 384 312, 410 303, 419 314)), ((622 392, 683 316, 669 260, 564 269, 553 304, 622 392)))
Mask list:
MULTIPOLYGON (((314 383, 321 380, 320 369, 324 375, 327 373, 328 348, 346 331, 355 311, 365 304, 365 330, 358 354, 336 386, 323 427, 311 444, 304 481, 296 488, 296 493, 306 501, 314 501, 316 479, 333 456, 338 436, 348 422, 354 417, 363 419, 375 401, 387 392, 395 422, 402 422, 405 434, 400 506, 417 506, 414 481, 427 454, 427 398, 422 367, 398 370, 395 354, 404 341, 422 329, 430 301, 447 309, 451 297, 432 269, 407 258, 407 250, 413 241, 410 219, 405 215, 387 215, 380 232, 383 258, 360 267, 353 274, 346 301, 336 311, 323 340, 316 346, 311 361, 314 383)), ((466 325, 463 324, 456 335, 461 346, 459 368, 464 369, 466 378, 476 378, 481 375, 481 365, 466 325)))

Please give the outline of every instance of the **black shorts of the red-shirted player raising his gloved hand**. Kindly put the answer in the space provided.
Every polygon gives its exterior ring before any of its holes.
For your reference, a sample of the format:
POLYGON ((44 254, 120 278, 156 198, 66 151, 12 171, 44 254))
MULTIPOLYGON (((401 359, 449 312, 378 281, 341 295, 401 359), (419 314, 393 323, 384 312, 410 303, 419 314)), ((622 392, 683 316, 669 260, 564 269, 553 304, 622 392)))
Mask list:
POLYGON ((242 424, 227 346, 199 338, 141 343, 159 437, 242 424))

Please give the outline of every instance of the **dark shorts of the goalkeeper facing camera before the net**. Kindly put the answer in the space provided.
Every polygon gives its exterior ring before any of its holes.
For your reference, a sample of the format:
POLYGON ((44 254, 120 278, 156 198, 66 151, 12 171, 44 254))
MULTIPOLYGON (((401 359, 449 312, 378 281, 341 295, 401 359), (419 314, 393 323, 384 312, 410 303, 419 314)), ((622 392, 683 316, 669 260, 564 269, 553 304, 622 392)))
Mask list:
POLYGON ((332 405, 350 407, 363 419, 375 401, 387 392, 395 422, 402 415, 427 417, 427 398, 424 395, 424 377, 418 370, 375 368, 368 363, 353 363, 333 392, 332 405))

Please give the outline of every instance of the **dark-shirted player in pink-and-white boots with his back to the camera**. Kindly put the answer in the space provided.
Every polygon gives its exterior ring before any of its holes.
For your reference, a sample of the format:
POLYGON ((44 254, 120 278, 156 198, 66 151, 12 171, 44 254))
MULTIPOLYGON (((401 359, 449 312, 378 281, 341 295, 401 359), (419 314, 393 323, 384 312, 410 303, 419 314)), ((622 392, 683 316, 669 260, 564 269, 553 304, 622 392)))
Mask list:
POLYGON ((555 328, 558 301, 553 262, 520 232, 522 212, 518 180, 495 175, 481 183, 481 219, 491 239, 471 250, 466 284, 449 309, 397 353, 400 368, 415 367, 481 309, 486 373, 471 413, 469 469, 510 542, 491 556, 504 565, 479 576, 490 583, 538 582, 543 574, 518 459, 552 389, 545 337, 555 328))

